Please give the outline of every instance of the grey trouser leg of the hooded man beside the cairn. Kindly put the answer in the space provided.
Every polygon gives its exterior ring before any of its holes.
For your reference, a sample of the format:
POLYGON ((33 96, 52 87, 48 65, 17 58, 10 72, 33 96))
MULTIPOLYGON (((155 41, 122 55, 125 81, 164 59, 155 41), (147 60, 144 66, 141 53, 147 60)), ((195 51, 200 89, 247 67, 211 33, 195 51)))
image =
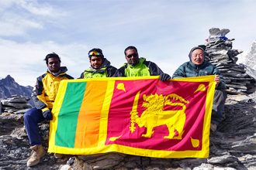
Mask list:
POLYGON ((221 121, 225 119, 223 114, 225 100, 227 99, 227 93, 225 90, 215 90, 213 97, 213 110, 211 123, 219 125, 221 121))

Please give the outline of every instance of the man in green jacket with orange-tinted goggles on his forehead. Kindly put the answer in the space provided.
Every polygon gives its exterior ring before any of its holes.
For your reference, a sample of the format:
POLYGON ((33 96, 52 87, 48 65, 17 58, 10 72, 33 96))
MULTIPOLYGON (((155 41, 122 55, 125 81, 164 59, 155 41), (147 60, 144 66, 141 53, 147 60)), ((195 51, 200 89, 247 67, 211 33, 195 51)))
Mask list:
POLYGON ((91 66, 81 73, 80 79, 93 77, 116 77, 121 76, 116 67, 111 66, 108 59, 104 58, 102 49, 91 49, 88 52, 91 66))

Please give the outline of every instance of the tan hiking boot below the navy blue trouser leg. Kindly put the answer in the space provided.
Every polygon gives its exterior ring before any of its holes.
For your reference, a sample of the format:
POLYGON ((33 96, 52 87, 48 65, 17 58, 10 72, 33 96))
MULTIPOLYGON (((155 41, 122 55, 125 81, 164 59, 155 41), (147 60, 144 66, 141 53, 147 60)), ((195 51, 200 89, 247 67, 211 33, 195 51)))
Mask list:
POLYGON ((40 162, 40 158, 42 158, 47 153, 47 151, 43 149, 42 145, 34 145, 30 147, 30 149, 32 152, 29 161, 26 162, 26 166, 33 166, 38 164, 40 162))

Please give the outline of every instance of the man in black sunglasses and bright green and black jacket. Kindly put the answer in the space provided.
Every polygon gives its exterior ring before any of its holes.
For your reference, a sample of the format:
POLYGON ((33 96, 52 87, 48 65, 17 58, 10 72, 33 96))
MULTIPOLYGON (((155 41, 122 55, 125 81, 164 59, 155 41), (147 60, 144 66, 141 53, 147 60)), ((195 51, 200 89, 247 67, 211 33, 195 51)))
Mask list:
POLYGON ((128 46, 124 50, 124 54, 127 63, 119 68, 119 72, 122 76, 160 76, 161 81, 171 79, 171 76, 167 73, 163 73, 157 64, 146 61, 145 58, 139 58, 136 47, 128 46))

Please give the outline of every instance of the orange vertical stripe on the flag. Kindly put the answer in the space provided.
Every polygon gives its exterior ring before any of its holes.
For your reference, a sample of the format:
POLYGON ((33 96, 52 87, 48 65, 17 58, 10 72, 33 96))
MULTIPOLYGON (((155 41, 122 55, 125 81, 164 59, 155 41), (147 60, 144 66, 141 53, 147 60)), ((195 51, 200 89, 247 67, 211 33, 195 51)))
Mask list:
POLYGON ((107 81, 88 81, 78 115, 74 148, 97 147, 99 123, 104 102, 107 81))

